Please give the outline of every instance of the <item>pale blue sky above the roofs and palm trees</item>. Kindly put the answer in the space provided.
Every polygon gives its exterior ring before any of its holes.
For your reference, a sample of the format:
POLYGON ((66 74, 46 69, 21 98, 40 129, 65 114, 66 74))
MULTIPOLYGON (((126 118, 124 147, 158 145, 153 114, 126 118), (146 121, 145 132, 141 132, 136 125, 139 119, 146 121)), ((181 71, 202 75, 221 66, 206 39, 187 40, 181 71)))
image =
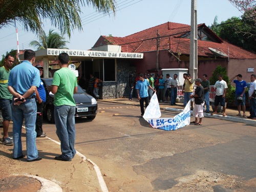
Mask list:
MULTIPOLYGON (((196 0, 195 0, 196 1, 196 0)), ((82 8, 83 31, 74 30, 71 38, 64 36, 69 43, 69 49, 91 49, 100 35, 124 37, 139 31, 155 27, 166 22, 190 25, 191 0, 116 0, 116 14, 103 15, 92 7, 82 8)), ((215 16, 218 23, 241 16, 242 13, 233 7, 228 0, 197 0, 197 24, 205 23, 211 26, 215 16)), ((27 32, 22 25, 18 28, 19 50, 32 49, 29 43, 38 40, 37 35, 27 32)), ((44 30, 59 30, 44 22, 44 30)), ((17 49, 16 30, 13 26, 0 29, 0 55, 6 54, 11 49, 17 49)))

